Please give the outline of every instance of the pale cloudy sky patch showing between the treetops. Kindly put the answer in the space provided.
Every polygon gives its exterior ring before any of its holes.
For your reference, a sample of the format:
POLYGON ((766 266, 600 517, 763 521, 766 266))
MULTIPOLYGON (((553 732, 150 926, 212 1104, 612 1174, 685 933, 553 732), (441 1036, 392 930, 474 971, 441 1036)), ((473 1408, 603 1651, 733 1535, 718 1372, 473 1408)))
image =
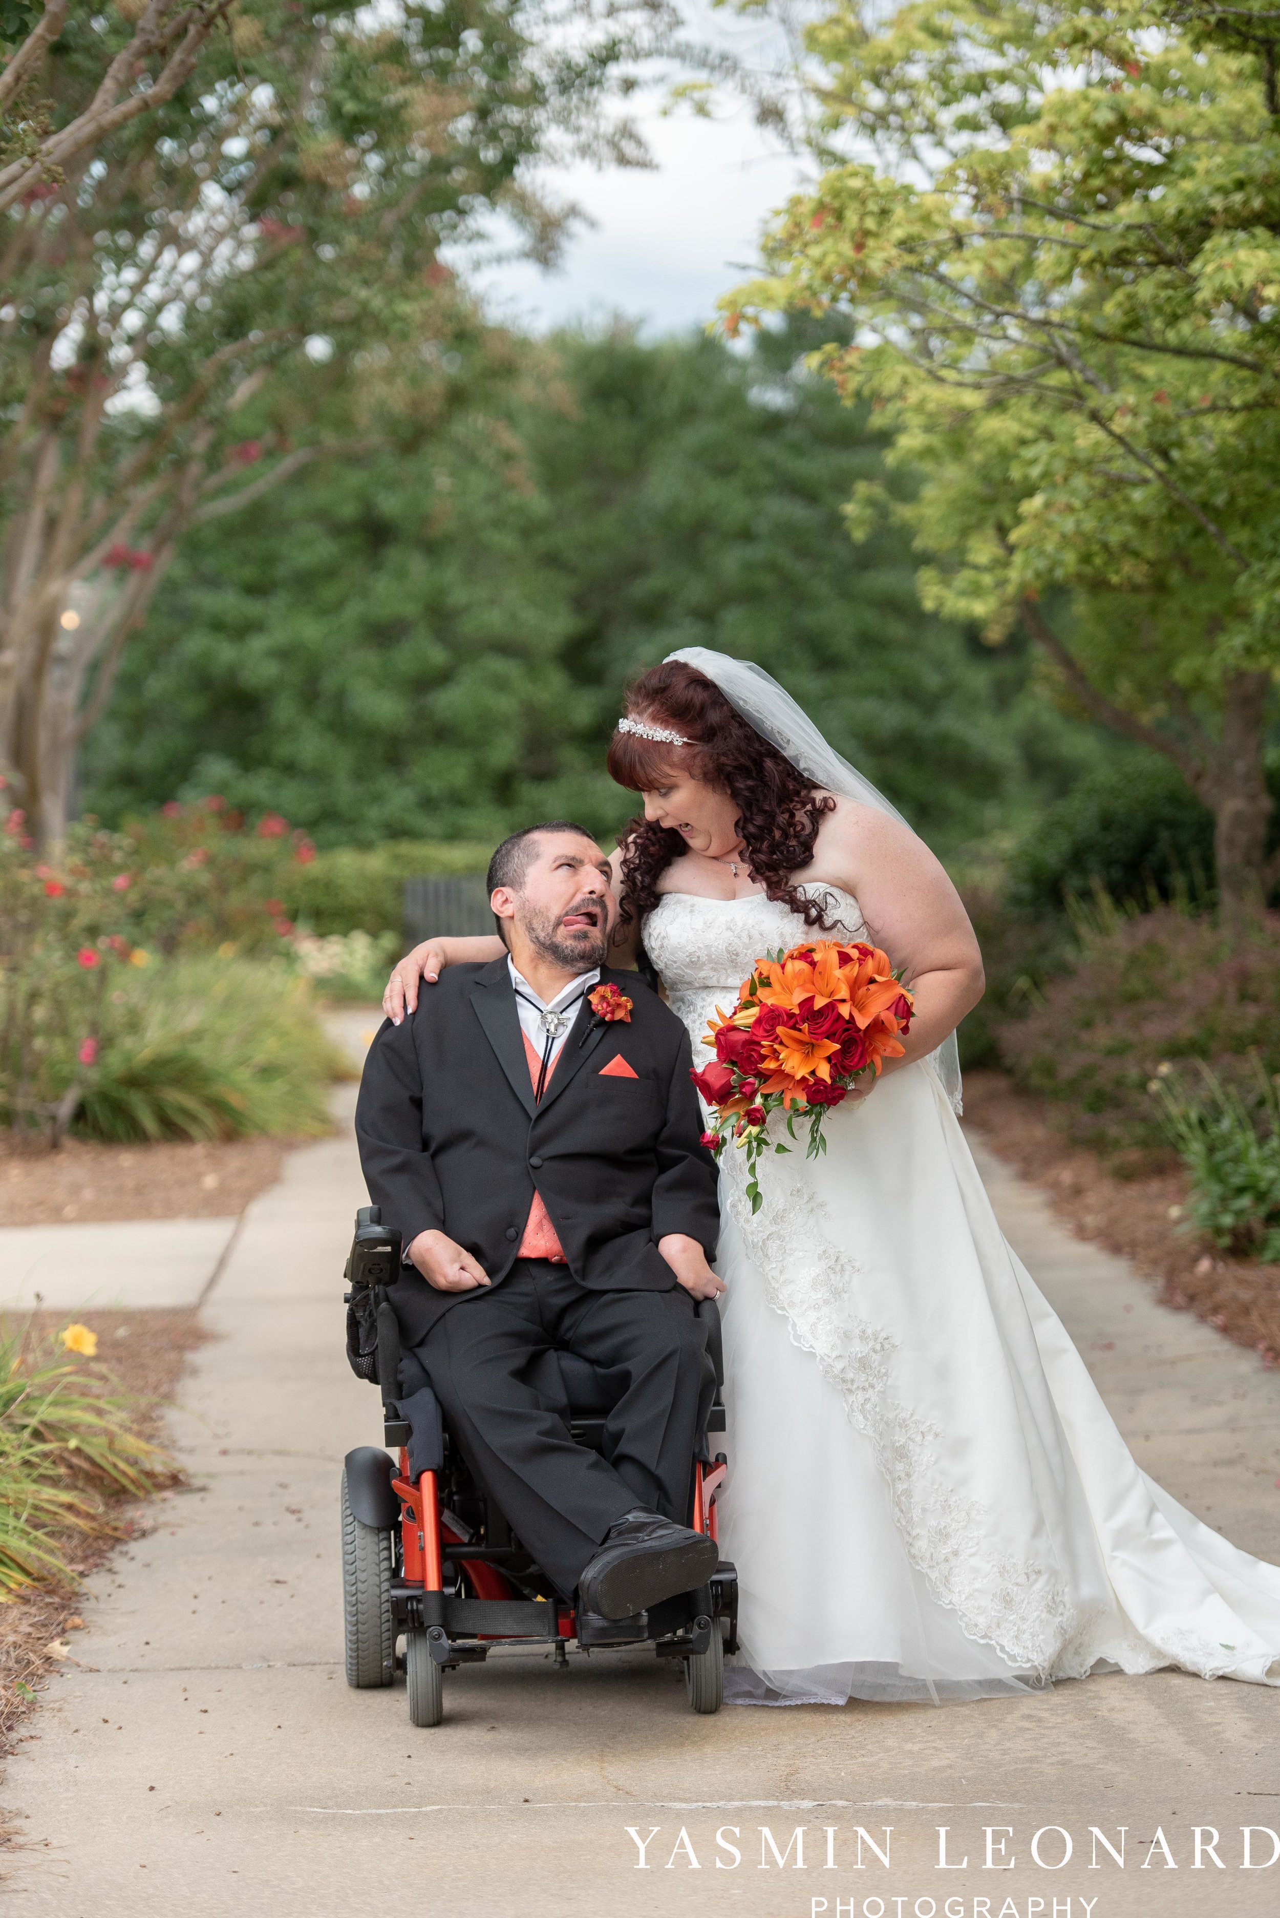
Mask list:
MULTIPOLYGON (((696 6, 692 33, 717 38, 753 35, 696 6), (699 17, 701 13, 701 17, 699 17)), ((646 322, 646 332, 703 324, 715 301, 753 270, 768 213, 801 184, 801 163, 763 134, 749 107, 722 100, 715 121, 688 113, 663 117, 661 96, 630 104, 657 159, 655 171, 573 167, 550 175, 556 198, 583 205, 594 226, 567 246, 563 267, 544 272, 512 263, 468 270, 494 316, 535 332, 615 313, 646 322)))

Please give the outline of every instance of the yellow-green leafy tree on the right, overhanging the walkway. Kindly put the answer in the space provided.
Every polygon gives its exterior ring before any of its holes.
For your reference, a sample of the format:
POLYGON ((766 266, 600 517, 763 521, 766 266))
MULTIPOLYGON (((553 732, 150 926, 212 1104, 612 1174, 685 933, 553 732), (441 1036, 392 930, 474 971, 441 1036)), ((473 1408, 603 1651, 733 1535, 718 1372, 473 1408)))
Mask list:
POLYGON ((809 46, 828 171, 730 330, 824 316, 828 370, 924 474, 926 602, 1021 620, 1171 758, 1240 913, 1280 664, 1280 13, 910 0, 868 25, 832 0, 809 46))

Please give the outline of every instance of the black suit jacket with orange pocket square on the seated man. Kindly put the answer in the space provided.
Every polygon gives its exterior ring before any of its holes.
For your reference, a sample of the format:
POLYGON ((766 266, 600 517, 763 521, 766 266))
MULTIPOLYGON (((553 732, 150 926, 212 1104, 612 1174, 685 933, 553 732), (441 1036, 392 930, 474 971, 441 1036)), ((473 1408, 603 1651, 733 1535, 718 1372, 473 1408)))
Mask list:
MULTIPOLYGON (((604 969, 600 982, 627 994, 630 1020, 606 1024, 583 1001, 540 1107, 506 959, 446 967, 416 1013, 383 1024, 364 1064, 356 1137, 370 1199, 404 1245, 446 1231, 498 1285, 537 1185, 583 1285, 671 1289, 657 1251, 669 1231, 715 1258, 717 1166, 699 1143, 688 1034, 638 972, 604 969), (613 1059, 634 1078, 602 1076, 613 1059)), ((441 1312, 487 1295, 441 1293, 404 1268, 391 1302, 418 1343, 441 1312)))

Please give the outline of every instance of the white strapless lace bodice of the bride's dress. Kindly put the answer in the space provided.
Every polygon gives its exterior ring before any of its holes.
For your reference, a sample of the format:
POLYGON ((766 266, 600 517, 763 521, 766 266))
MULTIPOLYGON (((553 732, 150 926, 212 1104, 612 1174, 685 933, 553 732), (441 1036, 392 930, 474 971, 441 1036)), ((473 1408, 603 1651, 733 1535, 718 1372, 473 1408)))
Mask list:
POLYGON ((742 900, 703 900, 694 892, 665 892, 644 923, 644 947, 661 972, 671 1009, 684 1020, 699 1053, 717 1005, 726 1013, 763 953, 803 940, 857 940, 866 932, 858 901, 839 886, 807 880, 801 892, 824 898, 830 930, 807 926, 799 913, 763 892, 742 900))

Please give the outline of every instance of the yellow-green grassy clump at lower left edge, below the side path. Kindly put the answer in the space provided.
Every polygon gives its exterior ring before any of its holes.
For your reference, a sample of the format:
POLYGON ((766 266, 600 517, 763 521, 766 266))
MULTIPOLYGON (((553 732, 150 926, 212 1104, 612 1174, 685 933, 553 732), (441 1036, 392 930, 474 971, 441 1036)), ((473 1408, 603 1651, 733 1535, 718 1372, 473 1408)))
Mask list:
POLYGON ((0 1322, 0 1590, 75 1584, 65 1534, 113 1536, 109 1498, 174 1485, 178 1467, 142 1435, 142 1412, 61 1339, 0 1322))

